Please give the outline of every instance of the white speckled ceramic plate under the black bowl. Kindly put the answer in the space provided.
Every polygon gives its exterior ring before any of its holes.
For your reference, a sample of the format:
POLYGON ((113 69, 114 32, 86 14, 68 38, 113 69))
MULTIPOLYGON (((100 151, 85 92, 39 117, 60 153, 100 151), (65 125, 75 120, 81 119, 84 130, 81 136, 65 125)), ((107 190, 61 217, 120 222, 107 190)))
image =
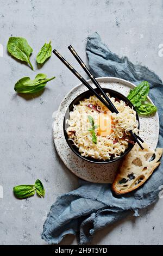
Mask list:
MULTIPOLYGON (((114 89, 117 92, 127 96, 129 90, 134 86, 126 80, 115 77, 99 77, 97 81, 103 88, 114 89)), ((90 80, 88 80, 92 87, 95 87, 90 80)), ((87 88, 83 84, 78 84, 74 87, 60 103, 57 114, 55 115, 55 121, 53 122, 53 135, 55 148, 68 169, 72 173, 91 182, 98 183, 112 183, 114 180, 116 170, 120 161, 109 164, 97 164, 87 162, 80 159, 73 151, 68 147, 63 131, 63 120, 67 107, 79 94, 85 92, 87 88)), ((152 102, 149 97, 148 100, 152 102)), ((159 137, 159 116, 158 113, 152 117, 140 117, 140 136, 151 148, 156 148, 159 137)))

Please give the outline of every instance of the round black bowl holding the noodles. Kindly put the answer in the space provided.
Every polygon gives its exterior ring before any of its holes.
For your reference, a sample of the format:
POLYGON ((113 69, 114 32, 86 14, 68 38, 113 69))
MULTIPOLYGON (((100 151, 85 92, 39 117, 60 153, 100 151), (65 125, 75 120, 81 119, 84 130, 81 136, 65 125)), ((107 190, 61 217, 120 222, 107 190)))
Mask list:
MULTIPOLYGON (((99 90, 98 89, 95 89, 98 93, 99 93, 99 90)), ((124 102, 126 102, 126 104, 129 106, 129 107, 133 107, 133 104, 127 99, 127 97, 125 97, 124 95, 122 95, 121 93, 118 93, 116 92, 115 90, 111 90, 111 89, 106 89, 106 88, 103 88, 104 92, 105 93, 109 93, 110 96, 112 97, 115 97, 119 100, 123 100, 124 102)), ((98 159, 93 159, 93 157, 86 157, 86 156, 82 156, 78 150, 78 148, 76 147, 76 145, 73 145, 73 142, 68 140, 68 135, 67 135, 67 132, 66 132, 66 129, 68 127, 68 124, 66 124, 66 120, 69 119, 69 113, 71 111, 73 111, 73 105, 78 105, 79 104, 79 101, 80 100, 84 100, 84 99, 88 99, 91 95, 93 95, 93 93, 90 91, 90 90, 87 90, 86 92, 78 95, 72 102, 71 104, 69 105, 69 107, 67 108, 67 111, 65 113, 65 118, 64 118, 64 135, 65 135, 65 139, 66 139, 66 142, 68 144, 68 146, 72 149, 72 151, 77 155, 79 156, 81 159, 83 160, 86 160, 86 161, 89 161, 89 162, 92 162, 92 163, 112 163, 112 162, 115 162, 115 161, 118 161, 120 159, 122 159, 122 157, 124 157, 125 155, 127 155, 129 153, 129 151, 134 147, 134 144, 129 144, 128 148, 124 151, 124 153, 121 154, 120 157, 118 157, 117 159, 110 159, 110 160, 98 160, 98 159)), ((134 108, 135 110, 135 108, 134 108)), ((136 110, 135 110, 136 111, 136 110)), ((136 119, 137 121, 139 122, 139 117, 138 117, 138 114, 136 113, 136 119)), ((139 126, 140 126, 140 123, 139 123, 139 126)))

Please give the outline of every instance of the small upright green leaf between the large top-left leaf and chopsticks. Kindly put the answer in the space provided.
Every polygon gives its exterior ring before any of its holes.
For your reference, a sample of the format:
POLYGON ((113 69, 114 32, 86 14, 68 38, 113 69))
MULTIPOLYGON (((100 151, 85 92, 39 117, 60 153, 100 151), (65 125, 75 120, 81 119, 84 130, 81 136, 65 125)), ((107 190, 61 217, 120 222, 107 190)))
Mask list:
POLYGON ((36 57, 36 61, 37 63, 39 64, 42 64, 45 62, 45 60, 49 57, 51 57, 52 55, 52 46, 51 46, 51 41, 49 41, 49 43, 45 43, 40 52, 37 54, 37 57, 36 57))

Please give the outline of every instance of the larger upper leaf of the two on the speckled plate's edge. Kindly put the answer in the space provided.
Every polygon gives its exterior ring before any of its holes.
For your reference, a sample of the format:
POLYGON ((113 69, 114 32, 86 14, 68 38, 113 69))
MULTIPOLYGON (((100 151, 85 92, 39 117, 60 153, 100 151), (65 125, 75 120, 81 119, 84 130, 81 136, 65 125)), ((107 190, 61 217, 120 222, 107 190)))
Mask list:
POLYGON ((143 101, 147 100, 149 93, 149 83, 147 81, 141 82, 133 90, 130 90, 127 98, 133 103, 134 107, 139 107, 143 101))

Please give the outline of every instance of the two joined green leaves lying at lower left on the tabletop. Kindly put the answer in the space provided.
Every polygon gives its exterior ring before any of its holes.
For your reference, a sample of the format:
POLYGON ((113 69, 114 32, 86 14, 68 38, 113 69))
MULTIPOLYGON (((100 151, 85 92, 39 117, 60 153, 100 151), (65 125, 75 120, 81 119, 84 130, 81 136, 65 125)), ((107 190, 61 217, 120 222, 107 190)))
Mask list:
POLYGON ((35 185, 18 185, 13 188, 15 197, 18 199, 25 199, 32 197, 35 191, 39 197, 45 196, 45 189, 43 188, 42 182, 40 180, 35 181, 35 185))

